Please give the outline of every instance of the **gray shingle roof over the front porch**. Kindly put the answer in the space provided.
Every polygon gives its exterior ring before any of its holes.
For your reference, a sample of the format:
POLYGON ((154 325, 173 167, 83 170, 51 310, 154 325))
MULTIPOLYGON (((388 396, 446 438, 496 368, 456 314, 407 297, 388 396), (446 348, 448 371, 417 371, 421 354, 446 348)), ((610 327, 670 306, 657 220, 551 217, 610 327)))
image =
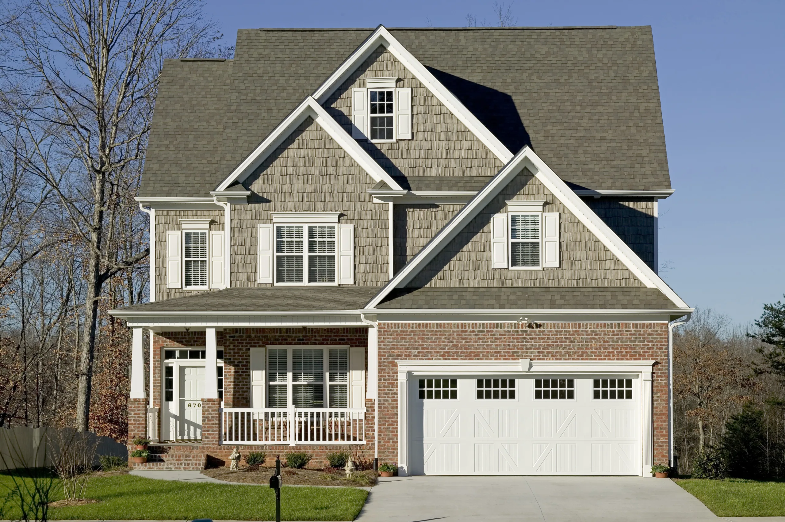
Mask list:
POLYGON ((122 312, 252 312, 254 310, 356 310, 371 301, 378 287, 227 288, 182 298, 126 306, 122 312))

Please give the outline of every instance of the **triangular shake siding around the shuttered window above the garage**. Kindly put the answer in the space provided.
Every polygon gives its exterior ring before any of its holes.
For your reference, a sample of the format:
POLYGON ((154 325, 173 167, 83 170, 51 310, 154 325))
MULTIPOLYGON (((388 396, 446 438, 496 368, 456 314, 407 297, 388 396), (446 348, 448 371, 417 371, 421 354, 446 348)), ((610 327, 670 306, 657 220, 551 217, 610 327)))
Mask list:
POLYGON ((510 181, 407 287, 643 287, 640 279, 528 170, 510 181), (491 217, 506 201, 542 199, 560 213, 560 266, 491 269, 491 217))

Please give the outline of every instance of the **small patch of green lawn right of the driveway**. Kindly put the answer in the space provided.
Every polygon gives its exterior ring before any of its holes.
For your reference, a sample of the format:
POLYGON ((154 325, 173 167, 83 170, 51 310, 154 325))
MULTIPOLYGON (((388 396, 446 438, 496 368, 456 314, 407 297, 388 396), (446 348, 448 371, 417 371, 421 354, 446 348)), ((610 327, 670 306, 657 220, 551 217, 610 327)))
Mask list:
POLYGON ((675 479, 717 517, 785 516, 785 482, 675 479))

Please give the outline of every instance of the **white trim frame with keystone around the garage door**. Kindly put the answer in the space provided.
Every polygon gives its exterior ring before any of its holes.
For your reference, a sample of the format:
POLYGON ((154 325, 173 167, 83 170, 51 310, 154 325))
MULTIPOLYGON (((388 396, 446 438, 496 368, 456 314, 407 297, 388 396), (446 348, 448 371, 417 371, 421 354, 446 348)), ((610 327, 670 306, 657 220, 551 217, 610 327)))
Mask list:
POLYGON ((398 466, 406 476, 409 461, 409 376, 442 374, 640 374, 641 375, 641 476, 648 473, 653 462, 652 445, 652 370, 655 361, 506 361, 477 360, 396 360, 398 365, 398 466))

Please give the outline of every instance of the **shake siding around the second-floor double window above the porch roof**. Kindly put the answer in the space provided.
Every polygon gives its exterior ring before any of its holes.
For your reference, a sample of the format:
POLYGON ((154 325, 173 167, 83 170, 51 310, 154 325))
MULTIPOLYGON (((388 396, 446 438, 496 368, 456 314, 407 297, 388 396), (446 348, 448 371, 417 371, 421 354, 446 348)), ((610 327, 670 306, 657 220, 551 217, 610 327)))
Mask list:
POLYGON ((376 181, 313 119, 306 119, 243 182, 251 203, 232 206, 232 287, 257 283, 257 224, 271 212, 341 212, 354 224, 356 286, 381 287, 389 279, 389 210, 372 203, 376 181))

